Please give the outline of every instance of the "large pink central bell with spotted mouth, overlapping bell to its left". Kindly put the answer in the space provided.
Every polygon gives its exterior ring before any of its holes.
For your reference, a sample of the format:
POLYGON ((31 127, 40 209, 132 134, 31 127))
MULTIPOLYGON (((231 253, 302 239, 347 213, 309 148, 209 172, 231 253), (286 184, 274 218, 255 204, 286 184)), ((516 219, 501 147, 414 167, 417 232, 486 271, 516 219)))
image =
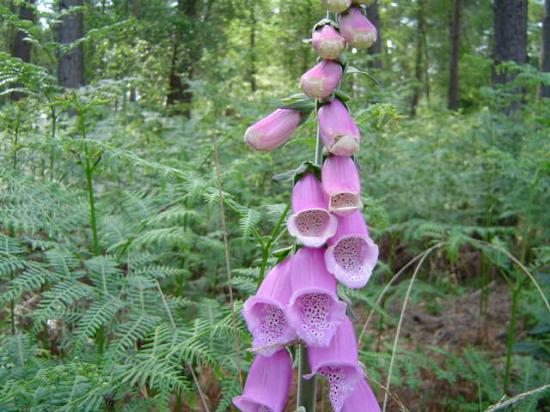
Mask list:
POLYGON ((346 304, 338 300, 336 280, 325 268, 323 250, 300 249, 292 258, 290 282, 290 325, 308 346, 327 347, 346 317, 346 304))

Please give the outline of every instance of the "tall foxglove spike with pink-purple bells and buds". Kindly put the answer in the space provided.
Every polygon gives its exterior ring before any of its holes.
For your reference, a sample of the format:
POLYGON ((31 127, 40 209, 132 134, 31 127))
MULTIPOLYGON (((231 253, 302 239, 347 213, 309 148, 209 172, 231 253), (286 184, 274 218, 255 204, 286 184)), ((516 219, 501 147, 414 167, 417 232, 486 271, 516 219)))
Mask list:
POLYGON ((267 252, 262 244, 261 284, 243 306, 252 351, 257 353, 242 395, 233 400, 243 412, 284 409, 291 382, 286 347, 292 349, 294 343, 299 344, 293 351, 299 358, 298 406, 314 412, 314 382, 320 376, 328 381, 334 411, 380 410, 358 360, 347 305, 337 291, 338 282, 349 288, 365 286, 378 259, 378 247, 361 214, 359 172, 350 157, 359 150, 360 132, 345 94, 338 90, 346 70, 340 54, 348 43, 369 47, 376 40, 376 28, 361 6, 368 0, 321 3, 329 12, 341 13, 339 25, 328 14, 315 25, 312 47, 321 60, 300 79, 304 95, 287 99, 245 133, 252 148, 271 151, 317 109, 315 162, 305 162, 294 176, 286 227, 295 243, 263 279, 272 241, 278 237, 273 235, 267 252), (321 167, 323 146, 327 156, 321 167))

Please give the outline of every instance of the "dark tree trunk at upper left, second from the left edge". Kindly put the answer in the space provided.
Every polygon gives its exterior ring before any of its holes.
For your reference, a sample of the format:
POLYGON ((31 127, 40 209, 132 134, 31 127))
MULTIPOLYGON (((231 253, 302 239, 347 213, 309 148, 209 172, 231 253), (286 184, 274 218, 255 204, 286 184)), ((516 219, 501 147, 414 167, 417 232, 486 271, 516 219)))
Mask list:
MULTIPOLYGON (((57 38, 60 44, 69 45, 82 37, 84 31, 82 12, 70 13, 71 8, 81 7, 82 4, 82 0, 60 0, 59 9, 64 13, 57 29, 57 38)), ((84 85, 84 50, 82 45, 72 47, 67 52, 59 52, 57 79, 61 86, 71 89, 84 85)))

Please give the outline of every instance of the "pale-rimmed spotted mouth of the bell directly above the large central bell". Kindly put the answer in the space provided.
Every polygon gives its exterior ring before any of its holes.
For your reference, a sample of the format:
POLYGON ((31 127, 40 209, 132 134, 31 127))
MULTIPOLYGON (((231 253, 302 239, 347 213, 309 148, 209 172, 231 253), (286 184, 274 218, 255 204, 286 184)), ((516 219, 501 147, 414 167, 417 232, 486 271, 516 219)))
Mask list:
POLYGON ((322 208, 301 210, 288 219, 288 232, 309 247, 324 245, 334 236, 337 226, 336 217, 322 208))

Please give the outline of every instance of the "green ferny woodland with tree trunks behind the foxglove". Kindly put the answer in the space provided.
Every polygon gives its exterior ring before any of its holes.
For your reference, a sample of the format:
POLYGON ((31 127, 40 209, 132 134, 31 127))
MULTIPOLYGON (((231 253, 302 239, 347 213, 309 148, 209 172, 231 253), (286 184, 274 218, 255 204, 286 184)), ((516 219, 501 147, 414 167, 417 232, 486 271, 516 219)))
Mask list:
MULTIPOLYGON (((373 390, 391 379, 392 411, 526 392, 501 409, 549 410, 550 1, 368 16, 378 42, 346 55, 370 77, 343 90, 381 259, 340 295, 373 390)), ((1 411, 230 410, 252 358, 238 310, 291 244, 278 222, 314 119, 273 154, 242 136, 299 91, 323 17, 317 0, 0 0, 1 411)))

